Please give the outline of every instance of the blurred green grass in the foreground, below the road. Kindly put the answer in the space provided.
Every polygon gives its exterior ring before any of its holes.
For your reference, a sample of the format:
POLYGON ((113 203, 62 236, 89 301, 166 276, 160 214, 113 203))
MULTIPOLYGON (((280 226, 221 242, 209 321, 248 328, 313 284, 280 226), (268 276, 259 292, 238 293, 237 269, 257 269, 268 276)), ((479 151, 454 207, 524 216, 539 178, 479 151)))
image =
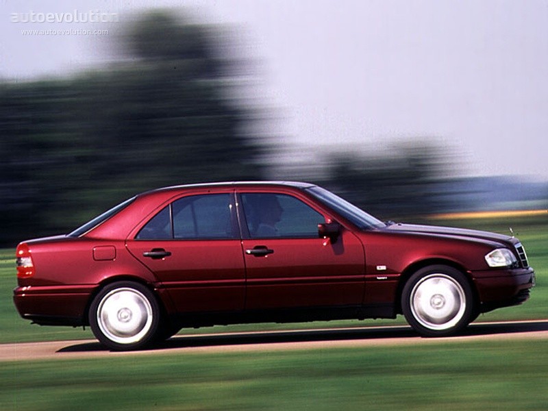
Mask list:
POLYGON ((548 340, 0 363, 12 410, 546 410, 548 340))

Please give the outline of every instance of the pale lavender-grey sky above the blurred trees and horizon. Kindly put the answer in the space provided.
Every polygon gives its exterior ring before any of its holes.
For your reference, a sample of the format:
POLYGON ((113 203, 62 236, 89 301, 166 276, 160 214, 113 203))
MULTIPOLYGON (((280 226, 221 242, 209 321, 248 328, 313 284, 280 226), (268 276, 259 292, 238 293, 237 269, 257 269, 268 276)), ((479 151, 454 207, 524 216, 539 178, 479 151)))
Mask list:
POLYGON ((548 0, 0 0, 0 79, 104 64, 119 23, 153 6, 236 27, 255 97, 299 152, 431 141, 460 175, 548 179, 548 0))

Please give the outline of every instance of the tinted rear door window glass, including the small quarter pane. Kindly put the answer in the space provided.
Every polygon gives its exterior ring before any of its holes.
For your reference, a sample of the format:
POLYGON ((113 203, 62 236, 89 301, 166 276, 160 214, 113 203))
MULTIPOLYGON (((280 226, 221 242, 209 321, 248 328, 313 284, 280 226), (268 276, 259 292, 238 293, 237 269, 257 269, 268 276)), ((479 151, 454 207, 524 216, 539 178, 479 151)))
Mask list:
POLYGON ((138 240, 237 238, 231 195, 183 197, 166 206, 142 227, 138 240))

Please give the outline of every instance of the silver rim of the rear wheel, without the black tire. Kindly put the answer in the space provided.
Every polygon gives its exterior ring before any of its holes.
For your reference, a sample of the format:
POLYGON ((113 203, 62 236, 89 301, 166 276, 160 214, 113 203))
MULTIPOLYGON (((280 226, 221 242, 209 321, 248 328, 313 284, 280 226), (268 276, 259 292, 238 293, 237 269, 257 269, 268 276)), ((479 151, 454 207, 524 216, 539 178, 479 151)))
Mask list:
POLYGON ((134 288, 115 288, 101 299, 97 307, 97 325, 103 335, 115 343, 140 341, 152 323, 151 303, 134 288))

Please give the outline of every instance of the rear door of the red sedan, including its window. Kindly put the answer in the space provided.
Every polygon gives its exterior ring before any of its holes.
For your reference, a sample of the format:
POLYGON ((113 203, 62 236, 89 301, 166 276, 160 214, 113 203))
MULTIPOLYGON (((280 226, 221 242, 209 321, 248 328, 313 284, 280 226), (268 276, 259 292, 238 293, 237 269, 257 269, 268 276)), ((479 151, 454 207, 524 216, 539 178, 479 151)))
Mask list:
POLYGON ((234 190, 175 199, 127 240, 127 248, 155 273, 178 312, 244 308, 234 190))

